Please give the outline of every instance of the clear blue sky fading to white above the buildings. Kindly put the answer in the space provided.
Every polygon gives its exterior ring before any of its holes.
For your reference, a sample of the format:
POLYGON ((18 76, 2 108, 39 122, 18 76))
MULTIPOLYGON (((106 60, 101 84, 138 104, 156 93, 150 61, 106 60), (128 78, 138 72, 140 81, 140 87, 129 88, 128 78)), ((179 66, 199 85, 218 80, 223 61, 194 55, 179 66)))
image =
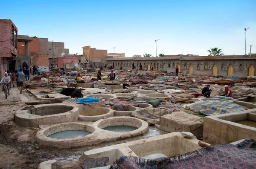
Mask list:
POLYGON ((256 53, 256 0, 0 0, 0 18, 18 34, 108 53, 225 55, 256 53))

